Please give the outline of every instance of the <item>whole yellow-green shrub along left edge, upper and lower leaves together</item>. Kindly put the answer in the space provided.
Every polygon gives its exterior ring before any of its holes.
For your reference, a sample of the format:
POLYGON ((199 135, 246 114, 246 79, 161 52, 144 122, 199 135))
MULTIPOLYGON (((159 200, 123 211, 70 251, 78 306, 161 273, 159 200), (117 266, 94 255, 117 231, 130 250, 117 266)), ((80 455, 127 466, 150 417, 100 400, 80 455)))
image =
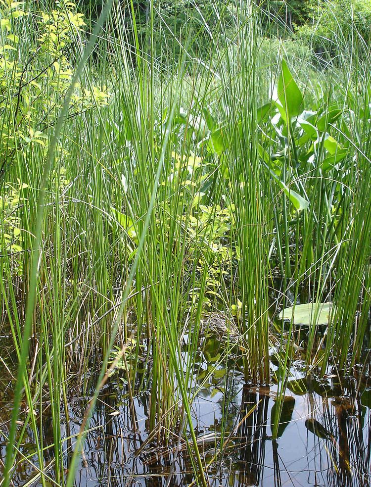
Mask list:
MULTIPOLYGON (((40 162, 46 157, 49 137, 71 86, 74 60, 81 54, 85 22, 71 2, 55 2, 50 12, 26 11, 24 2, 0 2, 0 176, 4 177, 17 153, 27 160, 37 151, 40 162)), ((107 100, 105 87, 75 85, 69 116, 107 100)), ((62 158, 67 155, 61 146, 56 152, 62 158)), ((68 185, 64 168, 54 170, 53 179, 58 180, 60 191, 68 185)), ((18 275, 25 250, 19 215, 26 192, 25 184, 7 183, 0 196, 2 248, 18 275)))

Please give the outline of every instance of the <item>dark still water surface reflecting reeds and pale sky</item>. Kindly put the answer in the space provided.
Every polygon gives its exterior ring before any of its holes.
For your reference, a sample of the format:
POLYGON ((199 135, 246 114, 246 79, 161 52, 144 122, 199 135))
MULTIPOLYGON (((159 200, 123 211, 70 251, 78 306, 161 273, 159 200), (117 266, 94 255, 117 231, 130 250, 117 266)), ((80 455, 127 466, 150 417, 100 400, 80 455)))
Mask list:
MULTIPOLYGON (((212 343, 215 346, 214 340, 212 343)), ((371 485, 370 370, 364 370, 357 379, 355 374, 340 381, 331 370, 322 379, 313 375, 306 378, 300 374, 301 365, 295 363, 293 378, 288 381, 276 439, 272 436, 272 422, 277 385, 250 387, 235 371, 227 374, 227 383, 223 377, 213 378, 211 384, 200 389, 192 405, 192 416, 210 485, 371 485), (227 406, 225 391, 230 391, 227 406)), ((11 413, 11 398, 6 394, 0 396, 0 432, 6 429, 11 413)), ((63 423, 62 438, 79 433, 89 399, 71 398, 70 422, 63 423)), ((148 438, 149 400, 149 391, 137 394, 134 421, 126 385, 111 380, 105 386, 93 414, 75 485, 186 486, 195 482, 186 436, 178 442, 175 432, 175 440, 166 447, 148 438)), ((50 445, 52 421, 47 405, 45 409, 43 443, 50 445)), ((30 463, 17 464, 14 486, 41 485, 39 481, 29 483, 37 473, 32 463, 37 465, 38 461, 33 455, 31 430, 26 438, 20 451, 30 463)), ((2 457, 5 444, 4 436, 0 436, 2 457)), ((67 473, 71 440, 65 441, 65 453, 67 473)), ((46 448, 45 465, 50 465, 51 478, 52 455, 52 448, 46 448)))

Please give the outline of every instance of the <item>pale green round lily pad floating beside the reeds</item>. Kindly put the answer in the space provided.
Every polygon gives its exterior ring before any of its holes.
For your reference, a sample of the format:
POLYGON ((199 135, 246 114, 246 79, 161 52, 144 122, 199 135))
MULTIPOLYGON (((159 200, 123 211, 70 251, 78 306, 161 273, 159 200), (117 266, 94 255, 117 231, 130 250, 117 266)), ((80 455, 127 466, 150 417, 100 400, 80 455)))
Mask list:
POLYGON ((330 302, 297 304, 295 308, 290 306, 283 309, 279 313, 279 319, 291 320, 293 318, 296 325, 311 325, 312 323, 327 325, 332 306, 333 304, 330 302))

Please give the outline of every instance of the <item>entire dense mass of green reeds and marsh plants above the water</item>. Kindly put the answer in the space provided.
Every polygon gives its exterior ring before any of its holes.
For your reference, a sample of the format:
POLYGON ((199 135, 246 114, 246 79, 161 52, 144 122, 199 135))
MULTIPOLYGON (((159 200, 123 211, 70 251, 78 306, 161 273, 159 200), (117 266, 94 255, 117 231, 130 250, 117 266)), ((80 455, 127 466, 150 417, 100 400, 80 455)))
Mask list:
MULTIPOLYGON (((70 2, 1 3, 1 358, 14 390, 2 486, 27 460, 18 454, 26 428, 35 479, 48 485, 52 449, 53 482, 73 485, 112 374, 133 416, 133 397, 150 390, 151 440, 187 432, 206 486, 191 404, 223 361, 232 357, 246 383, 278 383, 276 438, 296 360, 310 375, 362 359, 371 305, 365 1, 355 0, 360 20, 348 31, 346 13, 330 29, 340 1, 319 4, 309 53, 297 39, 262 37, 272 5, 117 2, 90 22, 70 2), (315 36, 354 39, 324 70, 311 62, 315 36), (304 339, 300 300, 309 303, 304 339), (331 303, 325 322, 315 303, 331 303), (288 320, 278 318, 283 308, 288 320), (205 327, 216 313, 224 348, 210 356, 205 327), (66 473, 61 418, 68 424, 74 388, 87 392, 92 364, 96 387, 66 473), (52 445, 43 442, 46 402, 52 445)), ((304 10, 291 6, 299 22, 304 10)), ((272 23, 284 18, 275 12, 272 23)))

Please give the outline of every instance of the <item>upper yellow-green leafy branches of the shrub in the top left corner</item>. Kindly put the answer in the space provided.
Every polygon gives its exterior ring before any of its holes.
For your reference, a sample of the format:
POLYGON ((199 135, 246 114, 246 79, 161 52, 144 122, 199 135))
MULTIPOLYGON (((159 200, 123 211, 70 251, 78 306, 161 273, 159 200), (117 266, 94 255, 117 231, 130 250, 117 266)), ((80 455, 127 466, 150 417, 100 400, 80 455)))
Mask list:
MULTIPOLYGON (((26 11, 24 2, 17 1, 2 0, 1 6, 0 158, 9 164, 16 149, 25 154, 33 143, 47 148, 48 130, 72 80, 73 59, 81 52, 85 23, 71 2, 56 2, 50 13, 26 11), (24 60, 23 45, 33 42, 25 39, 29 35, 26 26, 39 35, 24 60)), ((70 114, 106 100, 104 87, 88 90, 76 86, 70 114)))

